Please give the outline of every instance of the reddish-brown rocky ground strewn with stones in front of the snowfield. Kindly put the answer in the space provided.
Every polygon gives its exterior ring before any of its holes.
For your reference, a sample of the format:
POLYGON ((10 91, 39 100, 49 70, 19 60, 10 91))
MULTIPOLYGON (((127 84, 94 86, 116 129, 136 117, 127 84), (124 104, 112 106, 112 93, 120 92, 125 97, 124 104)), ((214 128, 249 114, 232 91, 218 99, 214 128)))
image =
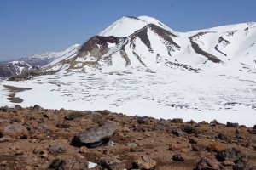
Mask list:
POLYGON ((255 142, 256 125, 0 109, 0 169, 256 169, 255 142))

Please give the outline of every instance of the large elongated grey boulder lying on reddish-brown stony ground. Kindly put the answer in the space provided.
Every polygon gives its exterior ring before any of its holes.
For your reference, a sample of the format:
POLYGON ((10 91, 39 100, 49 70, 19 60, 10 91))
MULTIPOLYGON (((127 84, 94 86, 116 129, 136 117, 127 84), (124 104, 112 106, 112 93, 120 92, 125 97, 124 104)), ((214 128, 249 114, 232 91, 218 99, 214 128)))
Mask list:
POLYGON ((86 146, 95 148, 102 144, 106 144, 117 130, 119 123, 108 121, 104 122, 102 126, 92 127, 84 133, 75 135, 71 144, 74 146, 86 146))

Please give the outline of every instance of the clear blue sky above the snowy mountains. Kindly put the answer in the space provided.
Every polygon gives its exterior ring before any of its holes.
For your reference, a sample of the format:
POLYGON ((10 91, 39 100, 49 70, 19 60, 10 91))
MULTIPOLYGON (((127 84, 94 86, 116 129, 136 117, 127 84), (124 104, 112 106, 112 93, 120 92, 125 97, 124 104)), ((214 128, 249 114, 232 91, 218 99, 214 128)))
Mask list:
POLYGON ((193 31, 255 22, 255 7, 254 0, 0 0, 0 60, 62 51, 125 15, 193 31))

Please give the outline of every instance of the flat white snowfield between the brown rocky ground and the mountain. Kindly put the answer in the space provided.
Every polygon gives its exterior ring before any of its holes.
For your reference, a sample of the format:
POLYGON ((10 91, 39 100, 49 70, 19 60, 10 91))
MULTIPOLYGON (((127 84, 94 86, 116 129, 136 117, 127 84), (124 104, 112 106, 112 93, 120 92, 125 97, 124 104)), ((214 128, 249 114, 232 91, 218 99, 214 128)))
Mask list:
MULTIPOLYGON (((2 82, 32 88, 16 94, 19 105, 49 109, 109 110, 131 116, 177 118, 196 122, 217 119, 253 127, 256 120, 255 72, 204 73, 137 70, 59 73, 25 82, 2 82), (236 76, 234 76, 236 75, 236 76)), ((1 86, 1 105, 8 102, 1 86)))

